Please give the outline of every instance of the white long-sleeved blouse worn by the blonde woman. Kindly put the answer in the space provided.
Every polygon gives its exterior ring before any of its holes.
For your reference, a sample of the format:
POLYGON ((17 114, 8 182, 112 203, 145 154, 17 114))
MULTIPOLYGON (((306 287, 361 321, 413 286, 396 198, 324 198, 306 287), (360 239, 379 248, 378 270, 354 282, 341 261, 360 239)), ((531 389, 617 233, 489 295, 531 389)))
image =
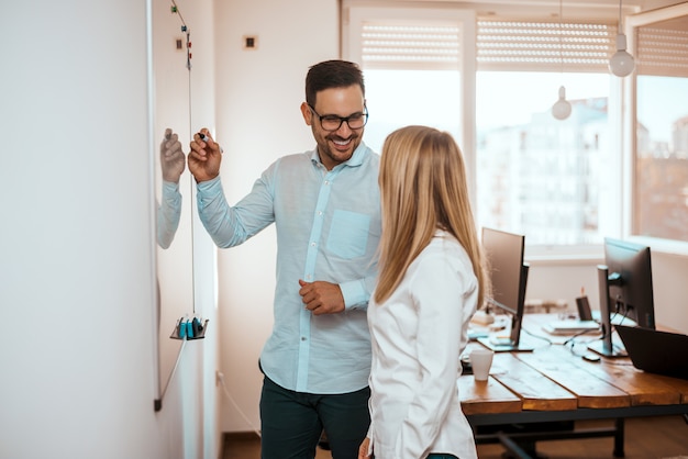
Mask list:
POLYGON ((430 452, 476 458, 456 380, 477 280, 468 255, 439 231, 384 303, 370 300, 370 429, 376 459, 430 452))

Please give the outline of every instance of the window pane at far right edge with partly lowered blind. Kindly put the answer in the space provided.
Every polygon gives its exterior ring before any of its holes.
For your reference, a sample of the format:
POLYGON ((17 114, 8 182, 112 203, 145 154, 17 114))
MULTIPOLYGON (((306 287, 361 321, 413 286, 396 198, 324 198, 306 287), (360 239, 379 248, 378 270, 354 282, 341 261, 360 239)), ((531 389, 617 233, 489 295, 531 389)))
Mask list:
POLYGON ((631 232, 688 242, 688 15, 635 27, 634 38, 631 232))

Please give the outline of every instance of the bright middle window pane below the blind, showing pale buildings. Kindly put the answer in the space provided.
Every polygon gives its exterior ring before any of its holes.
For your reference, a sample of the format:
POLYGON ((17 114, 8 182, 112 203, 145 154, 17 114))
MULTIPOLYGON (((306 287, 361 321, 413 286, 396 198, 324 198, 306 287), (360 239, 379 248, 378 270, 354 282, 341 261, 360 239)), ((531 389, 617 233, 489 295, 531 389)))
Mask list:
POLYGON ((484 226, 522 232, 531 245, 600 244, 599 210, 611 160, 609 77, 567 74, 566 120, 552 116, 561 74, 478 71, 477 213, 484 226), (507 102, 508 101, 508 102, 507 102))

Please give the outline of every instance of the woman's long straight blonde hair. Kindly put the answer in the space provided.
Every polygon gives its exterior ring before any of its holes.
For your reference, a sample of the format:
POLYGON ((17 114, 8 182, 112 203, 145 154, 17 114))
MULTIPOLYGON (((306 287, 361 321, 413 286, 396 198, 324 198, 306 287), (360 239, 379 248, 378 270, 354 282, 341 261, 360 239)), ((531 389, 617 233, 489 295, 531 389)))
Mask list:
POLYGON ((481 305, 489 277, 470 209, 464 158, 454 138, 428 126, 395 131, 382 146, 378 181, 382 236, 375 301, 380 304, 391 295, 409 265, 441 228, 468 253, 481 305))

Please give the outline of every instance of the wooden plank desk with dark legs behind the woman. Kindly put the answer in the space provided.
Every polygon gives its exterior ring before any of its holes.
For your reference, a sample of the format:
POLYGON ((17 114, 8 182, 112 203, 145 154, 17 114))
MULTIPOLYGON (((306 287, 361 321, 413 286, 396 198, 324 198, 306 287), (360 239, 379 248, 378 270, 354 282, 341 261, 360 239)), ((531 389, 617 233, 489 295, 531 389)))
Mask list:
MULTIPOLYGON (((584 360, 584 343, 599 335, 575 338, 573 348, 562 343, 567 337, 547 335, 541 325, 552 315, 526 315, 523 328, 533 335, 552 339, 534 339, 522 332, 522 339, 533 342, 532 352, 496 352, 488 381, 475 381, 471 374, 458 379, 462 407, 476 433, 477 443, 500 441, 515 457, 530 457, 519 443, 614 437, 613 455, 623 457, 623 419, 635 416, 688 414, 688 380, 645 373, 628 358, 604 358, 599 362, 584 360), (513 424, 613 419, 613 427, 603 429, 562 429, 509 434, 480 434, 485 426, 513 424)), ((467 351, 474 346, 471 342, 467 351)))

